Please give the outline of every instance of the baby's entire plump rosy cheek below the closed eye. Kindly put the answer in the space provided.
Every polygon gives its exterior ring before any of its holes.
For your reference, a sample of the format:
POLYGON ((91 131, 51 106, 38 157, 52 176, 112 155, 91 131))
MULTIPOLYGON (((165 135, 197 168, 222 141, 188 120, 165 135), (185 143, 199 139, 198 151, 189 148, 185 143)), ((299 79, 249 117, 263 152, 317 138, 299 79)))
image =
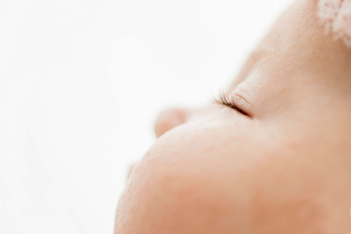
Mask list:
POLYGON ((343 233, 307 154, 284 155, 249 126, 222 125, 176 128, 150 148, 121 199, 115 233, 343 233))

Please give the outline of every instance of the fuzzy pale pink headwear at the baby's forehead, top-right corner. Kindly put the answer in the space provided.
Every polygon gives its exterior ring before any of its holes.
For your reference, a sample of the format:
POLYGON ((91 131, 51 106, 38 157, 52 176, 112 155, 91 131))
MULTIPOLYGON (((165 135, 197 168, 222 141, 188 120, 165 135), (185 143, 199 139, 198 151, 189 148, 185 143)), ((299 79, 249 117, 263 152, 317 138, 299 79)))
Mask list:
POLYGON ((319 0, 318 4, 326 34, 333 33, 351 48, 351 0, 319 0))

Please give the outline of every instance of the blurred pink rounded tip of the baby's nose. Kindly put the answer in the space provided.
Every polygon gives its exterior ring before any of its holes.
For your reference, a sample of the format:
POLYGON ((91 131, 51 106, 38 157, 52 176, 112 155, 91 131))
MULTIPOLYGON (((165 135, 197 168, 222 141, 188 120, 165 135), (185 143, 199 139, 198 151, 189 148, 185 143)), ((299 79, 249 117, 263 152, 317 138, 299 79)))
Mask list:
POLYGON ((168 109, 161 112, 155 122, 155 133, 159 137, 170 129, 186 121, 186 112, 183 109, 168 109))

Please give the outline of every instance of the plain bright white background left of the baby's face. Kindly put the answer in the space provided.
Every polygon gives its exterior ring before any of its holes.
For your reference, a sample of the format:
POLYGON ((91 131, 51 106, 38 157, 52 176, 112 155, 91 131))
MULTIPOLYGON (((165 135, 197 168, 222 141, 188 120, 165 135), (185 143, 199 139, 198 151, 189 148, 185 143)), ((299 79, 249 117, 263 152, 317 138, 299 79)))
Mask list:
POLYGON ((229 85, 291 0, 1 0, 0 233, 112 233, 157 114, 229 85))

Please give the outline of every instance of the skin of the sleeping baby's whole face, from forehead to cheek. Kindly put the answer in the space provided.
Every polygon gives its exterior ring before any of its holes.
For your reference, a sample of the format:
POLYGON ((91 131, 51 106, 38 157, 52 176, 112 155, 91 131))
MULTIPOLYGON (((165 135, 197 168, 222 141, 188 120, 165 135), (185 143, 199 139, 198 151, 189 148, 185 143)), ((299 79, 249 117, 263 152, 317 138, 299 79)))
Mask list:
POLYGON ((294 2, 218 104, 160 114, 115 234, 348 234, 351 51, 294 2))

